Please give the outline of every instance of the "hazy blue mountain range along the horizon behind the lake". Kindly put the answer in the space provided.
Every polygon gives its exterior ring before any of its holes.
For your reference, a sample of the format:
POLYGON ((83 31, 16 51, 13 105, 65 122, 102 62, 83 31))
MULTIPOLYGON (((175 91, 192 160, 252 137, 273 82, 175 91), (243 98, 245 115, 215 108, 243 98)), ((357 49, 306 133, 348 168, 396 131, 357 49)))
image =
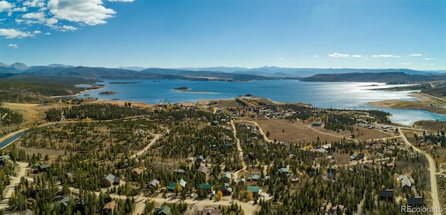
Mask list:
MULTIPOLYGON (((446 71, 408 69, 318 69, 288 67, 184 67, 177 69, 145 67, 82 67, 63 64, 27 66, 24 63, 0 63, 0 77, 33 74, 43 77, 77 77, 84 79, 189 79, 251 81, 269 79, 302 79, 304 81, 395 81, 413 82, 446 80, 446 71), (355 75, 360 73, 361 75, 355 75), (340 75, 344 74, 344 75, 340 75), (381 75, 380 75, 381 74, 381 75), (383 76, 382 74, 385 74, 383 76), (392 77, 390 80, 389 78, 392 77), (429 78, 428 78, 429 77, 429 78)), ((385 81, 385 82, 387 82, 385 81)))

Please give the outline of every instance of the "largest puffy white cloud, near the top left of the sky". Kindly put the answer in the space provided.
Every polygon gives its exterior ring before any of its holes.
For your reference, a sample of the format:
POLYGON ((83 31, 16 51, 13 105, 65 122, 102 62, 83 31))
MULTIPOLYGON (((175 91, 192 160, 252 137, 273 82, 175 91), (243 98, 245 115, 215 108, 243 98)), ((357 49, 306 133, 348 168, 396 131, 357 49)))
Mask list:
POLYGON ((48 8, 57 19, 91 26, 107 23, 105 20, 116 13, 113 9, 105 8, 102 0, 49 0, 48 8))

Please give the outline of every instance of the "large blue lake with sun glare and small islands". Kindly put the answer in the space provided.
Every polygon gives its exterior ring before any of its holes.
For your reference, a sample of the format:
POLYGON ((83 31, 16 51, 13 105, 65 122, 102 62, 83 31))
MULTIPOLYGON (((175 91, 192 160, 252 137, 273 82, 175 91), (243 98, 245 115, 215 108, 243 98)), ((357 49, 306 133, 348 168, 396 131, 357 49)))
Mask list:
MULTIPOLYGON (((120 99, 125 101, 157 104, 160 100, 168 102, 197 102, 199 99, 232 99, 250 93, 259 97, 268 97, 276 102, 304 102, 312 106, 334 109, 378 109, 367 102, 385 99, 415 100, 410 97, 413 91, 370 90, 387 88, 384 83, 362 82, 306 82, 297 80, 274 81, 185 81, 185 80, 130 80, 140 81, 134 84, 110 84, 105 80, 106 88, 86 92, 98 99, 120 99), (378 86, 371 86, 378 85, 378 86), (173 88, 187 86, 190 91, 178 92, 173 88), (116 91, 116 95, 98 95, 101 91, 116 91)), ((79 95, 84 97, 84 95, 79 95)), ((409 125, 417 120, 446 120, 446 116, 428 111, 378 109, 392 114, 391 120, 409 125)))

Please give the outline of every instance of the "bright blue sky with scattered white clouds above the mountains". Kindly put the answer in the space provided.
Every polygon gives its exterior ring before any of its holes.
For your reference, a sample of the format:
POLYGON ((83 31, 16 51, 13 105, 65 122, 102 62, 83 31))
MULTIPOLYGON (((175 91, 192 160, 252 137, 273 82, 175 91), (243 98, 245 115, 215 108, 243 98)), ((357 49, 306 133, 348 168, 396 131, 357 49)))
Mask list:
POLYGON ((0 0, 0 62, 446 70, 446 1, 0 0))

